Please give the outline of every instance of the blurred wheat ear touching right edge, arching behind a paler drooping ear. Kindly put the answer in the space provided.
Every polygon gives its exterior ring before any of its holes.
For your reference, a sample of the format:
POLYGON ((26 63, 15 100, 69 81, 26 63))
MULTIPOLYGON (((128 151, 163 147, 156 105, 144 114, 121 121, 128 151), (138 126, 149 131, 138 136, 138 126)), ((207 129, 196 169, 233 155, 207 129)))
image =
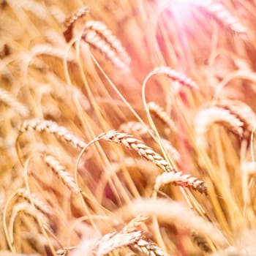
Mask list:
POLYGON ((244 102, 239 100, 222 99, 217 101, 216 105, 220 108, 225 108, 231 114, 236 116, 243 122, 244 136, 249 136, 256 124, 256 114, 244 102))

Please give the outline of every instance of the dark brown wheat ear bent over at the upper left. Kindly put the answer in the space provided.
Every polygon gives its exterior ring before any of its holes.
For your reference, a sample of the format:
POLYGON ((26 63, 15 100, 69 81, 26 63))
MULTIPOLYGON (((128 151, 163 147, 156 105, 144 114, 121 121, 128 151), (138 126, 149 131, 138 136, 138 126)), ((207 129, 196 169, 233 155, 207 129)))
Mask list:
POLYGON ((84 15, 89 13, 88 7, 81 7, 80 9, 76 10, 72 13, 65 21, 64 26, 66 27, 65 31, 63 32, 65 39, 67 42, 72 38, 72 30, 75 22, 82 18, 84 15))

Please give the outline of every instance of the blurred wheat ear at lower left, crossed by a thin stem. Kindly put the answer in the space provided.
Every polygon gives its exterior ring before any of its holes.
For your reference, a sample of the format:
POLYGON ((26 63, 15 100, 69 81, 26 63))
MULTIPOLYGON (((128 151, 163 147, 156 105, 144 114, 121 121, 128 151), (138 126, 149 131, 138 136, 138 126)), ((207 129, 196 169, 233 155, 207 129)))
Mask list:
POLYGON ((18 189, 17 195, 23 197, 25 200, 28 200, 29 202, 31 196, 31 199, 33 200, 34 206, 37 208, 37 210, 41 211, 43 214, 47 216, 53 215, 53 211, 51 210, 50 206, 48 206, 47 203, 42 201, 42 199, 38 195, 34 193, 29 193, 29 191, 26 189, 18 189))

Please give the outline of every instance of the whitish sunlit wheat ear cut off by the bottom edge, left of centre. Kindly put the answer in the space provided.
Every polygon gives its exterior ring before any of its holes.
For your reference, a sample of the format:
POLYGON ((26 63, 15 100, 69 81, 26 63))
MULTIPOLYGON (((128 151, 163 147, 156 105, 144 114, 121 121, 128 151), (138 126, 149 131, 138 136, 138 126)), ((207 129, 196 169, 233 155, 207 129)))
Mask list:
POLYGON ((141 236, 141 231, 122 234, 108 233, 97 242, 96 255, 107 255, 119 247, 135 244, 140 240, 141 236))

